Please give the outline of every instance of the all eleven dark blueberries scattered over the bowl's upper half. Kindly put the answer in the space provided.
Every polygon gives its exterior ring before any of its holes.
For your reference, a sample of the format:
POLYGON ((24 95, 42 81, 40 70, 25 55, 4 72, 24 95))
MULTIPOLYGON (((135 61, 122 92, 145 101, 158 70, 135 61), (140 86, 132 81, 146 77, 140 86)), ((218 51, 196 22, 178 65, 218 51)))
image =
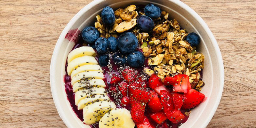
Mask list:
MULTIPOLYGON (((137 19, 137 26, 143 32, 150 32, 153 30, 155 24, 152 19, 157 19, 161 16, 161 9, 154 4, 148 4, 144 8, 145 15, 141 15, 137 19)), ((111 7, 105 7, 101 12, 101 19, 106 25, 113 25, 115 23, 115 14, 111 7)), ((126 62, 133 68, 138 68, 144 64, 144 55, 136 51, 138 47, 138 39, 131 32, 124 32, 118 39, 109 37, 108 39, 100 37, 97 28, 88 26, 82 31, 82 38, 85 42, 90 44, 98 54, 100 66, 107 66, 109 57, 106 55, 108 51, 116 53, 112 60, 115 64, 124 65, 126 62), (120 53, 118 53, 120 50, 120 53)), ((187 36, 187 41, 191 46, 196 46, 200 42, 200 37, 196 33, 190 33, 187 36)))

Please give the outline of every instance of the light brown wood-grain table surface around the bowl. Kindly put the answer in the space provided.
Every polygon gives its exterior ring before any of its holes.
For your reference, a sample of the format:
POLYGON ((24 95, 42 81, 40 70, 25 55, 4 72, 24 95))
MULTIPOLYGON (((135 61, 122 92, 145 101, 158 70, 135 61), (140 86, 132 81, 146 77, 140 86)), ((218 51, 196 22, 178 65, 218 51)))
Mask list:
MULTIPOLYGON (((65 128, 52 100, 52 52, 69 20, 92 0, 0 1, 0 128, 65 128)), ((212 30, 225 85, 207 128, 256 127, 256 0, 182 0, 212 30)))

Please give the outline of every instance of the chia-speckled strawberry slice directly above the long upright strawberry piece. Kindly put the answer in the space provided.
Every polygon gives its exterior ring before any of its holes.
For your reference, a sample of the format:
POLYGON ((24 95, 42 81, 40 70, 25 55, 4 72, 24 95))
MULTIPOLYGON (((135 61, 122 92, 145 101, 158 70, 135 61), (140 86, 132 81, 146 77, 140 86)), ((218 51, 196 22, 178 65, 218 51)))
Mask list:
POLYGON ((147 103, 150 99, 149 92, 146 92, 146 90, 140 90, 140 89, 130 89, 131 90, 131 97, 134 100, 139 100, 140 102, 147 103))

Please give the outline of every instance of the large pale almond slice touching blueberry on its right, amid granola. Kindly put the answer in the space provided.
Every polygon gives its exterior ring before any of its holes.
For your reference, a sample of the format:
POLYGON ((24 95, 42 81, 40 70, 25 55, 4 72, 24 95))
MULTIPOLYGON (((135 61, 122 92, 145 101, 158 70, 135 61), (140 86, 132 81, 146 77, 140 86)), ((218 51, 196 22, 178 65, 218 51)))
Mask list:
POLYGON ((124 21, 124 22, 120 23, 118 25, 118 27, 116 28, 116 32, 122 33, 124 31, 130 30, 137 24, 136 20, 137 19, 132 19, 131 21, 124 21))

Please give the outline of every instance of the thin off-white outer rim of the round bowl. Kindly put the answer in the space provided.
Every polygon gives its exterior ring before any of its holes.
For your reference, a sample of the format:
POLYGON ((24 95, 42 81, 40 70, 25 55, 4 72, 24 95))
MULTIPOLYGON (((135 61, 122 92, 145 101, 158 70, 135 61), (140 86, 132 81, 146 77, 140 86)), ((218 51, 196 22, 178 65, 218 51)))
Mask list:
MULTIPOLYGON (((57 59, 57 52, 60 50, 60 46, 61 46, 61 40, 65 38, 66 33, 68 33, 68 30, 71 29, 72 25, 76 22, 76 20, 78 20, 83 14, 84 12, 90 10, 92 7, 94 7, 95 5, 106 1, 106 0, 94 0, 91 3, 87 4, 86 6, 84 6, 79 12, 76 13, 76 15, 68 22, 68 24, 66 25, 66 27, 63 29, 63 31, 60 34, 60 37, 54 47, 54 51, 52 54, 52 59, 51 59, 51 65, 50 65, 50 84, 51 84, 51 92, 56 92, 57 90, 55 90, 55 88, 53 87, 56 84, 56 80, 55 80, 55 76, 54 74, 54 65, 56 65, 56 59, 57 59)), ((180 0, 166 0, 166 1, 171 1, 177 5, 179 5, 181 8, 185 9, 188 11, 188 13, 190 13, 195 20, 197 20, 198 23, 201 24, 202 28, 204 28, 204 30, 206 31, 206 35, 209 36, 209 38, 212 40, 212 45, 213 45, 213 49, 217 54, 217 60, 218 60, 218 65, 219 65, 219 72, 220 72, 220 91, 218 92, 217 97, 217 101, 215 102, 213 109, 211 111, 211 113, 209 114, 209 118, 205 119, 204 123, 202 124, 202 127, 206 127, 209 122, 211 121, 213 115, 215 114, 220 100, 221 100, 221 96, 222 96, 222 92, 223 92, 223 88, 224 88, 224 64, 223 64, 223 59, 222 59, 222 55, 220 52, 220 48, 219 45, 215 39, 215 37, 213 36, 210 28, 207 26, 207 24, 204 22, 204 20, 193 10, 191 9, 187 4, 184 4, 183 2, 181 2, 180 0)), ((154 2, 154 1, 152 1, 154 2)), ((67 127, 71 127, 72 124, 67 120, 67 118, 64 116, 64 110, 61 108, 60 104, 59 104, 59 100, 57 97, 56 93, 52 93, 52 97, 53 97, 53 101, 55 104, 55 107, 57 108, 57 111, 60 115, 60 118, 63 120, 63 122, 66 124, 67 127)))

